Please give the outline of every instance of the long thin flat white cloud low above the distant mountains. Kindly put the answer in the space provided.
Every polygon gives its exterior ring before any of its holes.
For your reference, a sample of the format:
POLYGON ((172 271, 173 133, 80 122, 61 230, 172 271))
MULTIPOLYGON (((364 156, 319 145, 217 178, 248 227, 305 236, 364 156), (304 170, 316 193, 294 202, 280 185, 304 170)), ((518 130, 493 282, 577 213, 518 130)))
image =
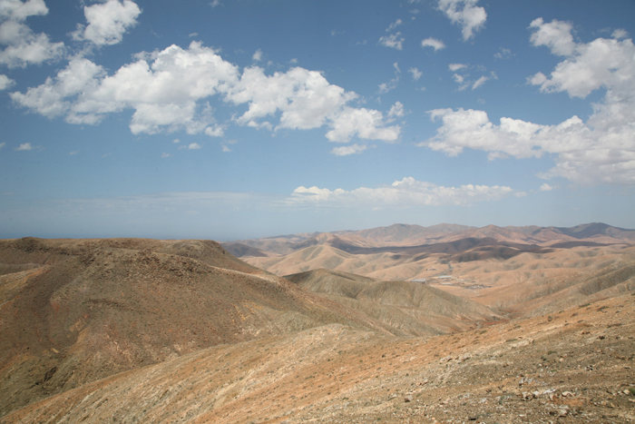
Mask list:
POLYGON ((329 190, 300 186, 293 191, 289 202, 331 207, 410 207, 421 205, 470 206, 477 202, 499 201, 505 197, 522 197, 526 193, 499 185, 465 184, 444 187, 432 182, 406 177, 389 186, 360 187, 354 190, 329 190))

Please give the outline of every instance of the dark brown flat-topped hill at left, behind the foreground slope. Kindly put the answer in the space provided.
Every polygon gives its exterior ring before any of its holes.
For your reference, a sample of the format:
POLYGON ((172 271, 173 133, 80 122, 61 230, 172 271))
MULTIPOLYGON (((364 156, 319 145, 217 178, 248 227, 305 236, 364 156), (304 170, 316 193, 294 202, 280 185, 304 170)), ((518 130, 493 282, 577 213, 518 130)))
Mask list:
POLYGON ((0 413, 222 343, 327 323, 384 331, 218 243, 0 241, 0 413))

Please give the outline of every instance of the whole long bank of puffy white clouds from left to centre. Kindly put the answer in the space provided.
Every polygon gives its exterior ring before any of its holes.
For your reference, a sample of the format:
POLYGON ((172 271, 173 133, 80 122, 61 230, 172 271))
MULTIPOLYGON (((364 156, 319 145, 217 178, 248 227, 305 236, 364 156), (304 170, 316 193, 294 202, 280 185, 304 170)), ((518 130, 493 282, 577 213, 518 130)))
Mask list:
POLYGON ((247 104, 248 110, 234 122, 254 128, 308 130, 328 125, 331 141, 358 136, 391 142, 400 131, 398 126, 386 127, 381 112, 349 106, 357 94, 329 84, 317 71, 294 67, 267 75, 259 66, 250 66, 240 74, 236 65, 198 42, 187 49, 171 45, 136 54, 132 63, 111 75, 75 57, 44 84, 11 97, 32 112, 63 116, 68 123, 97 124, 106 114, 132 110, 130 129, 135 134, 185 130, 220 137, 225 125, 215 122, 209 104, 216 95, 225 104, 247 104), (354 122, 344 123, 347 117, 354 122))

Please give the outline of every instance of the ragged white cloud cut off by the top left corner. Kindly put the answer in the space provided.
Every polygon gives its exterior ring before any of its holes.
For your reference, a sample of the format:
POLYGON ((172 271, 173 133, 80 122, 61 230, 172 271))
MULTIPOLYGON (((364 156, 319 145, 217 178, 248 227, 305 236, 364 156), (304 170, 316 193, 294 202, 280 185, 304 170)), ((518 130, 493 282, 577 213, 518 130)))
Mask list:
POLYGON ((48 35, 34 34, 24 20, 33 15, 46 15, 44 0, 2 0, 0 2, 0 64, 10 68, 42 64, 64 54, 64 43, 51 43, 48 35))

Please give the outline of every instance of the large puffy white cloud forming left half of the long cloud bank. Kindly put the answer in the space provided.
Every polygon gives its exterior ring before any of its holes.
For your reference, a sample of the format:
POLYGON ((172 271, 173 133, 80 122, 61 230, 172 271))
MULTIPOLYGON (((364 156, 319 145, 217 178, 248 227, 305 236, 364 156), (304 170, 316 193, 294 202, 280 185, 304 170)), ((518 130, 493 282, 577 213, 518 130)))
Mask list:
POLYGON ((133 109, 132 133, 204 131, 213 117, 202 100, 235 84, 238 68, 197 42, 150 56, 153 62, 139 59, 111 76, 88 59, 73 59, 44 84, 11 95, 17 104, 48 117, 64 115, 69 123, 95 124, 106 113, 133 109))

